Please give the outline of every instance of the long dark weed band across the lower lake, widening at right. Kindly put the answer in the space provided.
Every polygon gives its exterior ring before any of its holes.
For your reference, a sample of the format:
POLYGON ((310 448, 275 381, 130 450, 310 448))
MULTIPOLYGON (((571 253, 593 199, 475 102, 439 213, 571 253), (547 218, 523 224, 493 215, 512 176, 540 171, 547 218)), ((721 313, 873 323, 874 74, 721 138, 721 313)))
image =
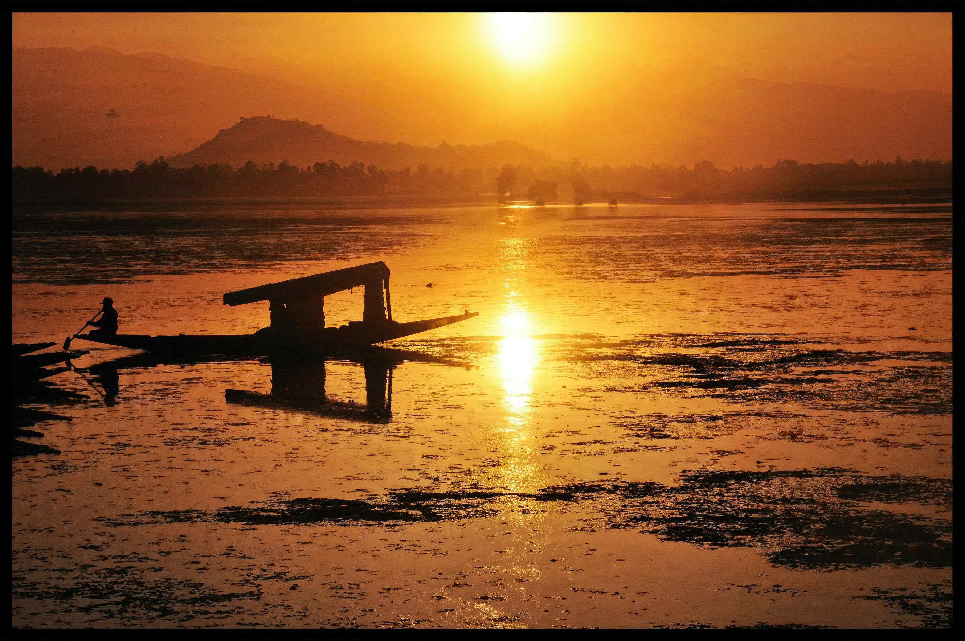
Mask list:
POLYGON ((521 503, 562 508, 579 501, 613 527, 714 547, 758 547, 776 565, 841 570, 878 565, 951 566, 951 521, 870 509, 869 502, 951 505, 951 482, 868 476, 837 467, 785 471, 700 469, 676 487, 582 483, 538 492, 398 490, 369 500, 296 498, 251 507, 145 512, 102 519, 112 527, 199 521, 244 525, 376 524, 495 516, 521 503), (602 505, 600 505, 602 504, 602 505))

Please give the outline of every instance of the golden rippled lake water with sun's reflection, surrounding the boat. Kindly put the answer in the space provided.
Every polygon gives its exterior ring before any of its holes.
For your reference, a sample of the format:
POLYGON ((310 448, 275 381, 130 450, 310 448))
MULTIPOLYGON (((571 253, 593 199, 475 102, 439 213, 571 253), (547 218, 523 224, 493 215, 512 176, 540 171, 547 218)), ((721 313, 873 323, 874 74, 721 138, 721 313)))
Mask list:
POLYGON ((75 341, 14 626, 951 626, 951 205, 29 209, 13 246, 14 342, 105 295, 251 332, 222 293, 377 260, 396 321, 480 313, 375 366, 75 341))

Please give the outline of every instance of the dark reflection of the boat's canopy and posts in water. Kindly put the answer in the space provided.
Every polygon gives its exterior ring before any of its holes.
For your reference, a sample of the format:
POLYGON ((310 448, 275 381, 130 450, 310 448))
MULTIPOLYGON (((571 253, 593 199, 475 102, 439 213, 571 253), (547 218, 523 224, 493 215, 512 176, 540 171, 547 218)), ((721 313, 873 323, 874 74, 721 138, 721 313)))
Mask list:
POLYGON ((228 388, 228 403, 255 404, 304 411, 319 416, 366 423, 392 420, 392 370, 398 364, 372 357, 362 358, 365 371, 365 404, 341 401, 325 395, 325 361, 271 361, 271 393, 228 388))

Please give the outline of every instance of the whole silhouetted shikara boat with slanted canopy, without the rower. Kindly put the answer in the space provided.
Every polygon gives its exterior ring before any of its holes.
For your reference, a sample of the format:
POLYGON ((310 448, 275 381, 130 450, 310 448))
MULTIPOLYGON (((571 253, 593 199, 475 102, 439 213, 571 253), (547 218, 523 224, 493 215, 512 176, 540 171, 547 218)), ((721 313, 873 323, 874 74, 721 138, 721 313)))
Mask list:
POLYGON ((223 304, 232 307, 268 301, 270 325, 254 334, 103 336, 91 332, 77 338, 166 356, 334 354, 479 316, 467 311, 426 321, 393 321, 389 273, 389 267, 379 261, 224 294, 223 304), (356 287, 365 288, 362 321, 326 327, 324 297, 356 287))

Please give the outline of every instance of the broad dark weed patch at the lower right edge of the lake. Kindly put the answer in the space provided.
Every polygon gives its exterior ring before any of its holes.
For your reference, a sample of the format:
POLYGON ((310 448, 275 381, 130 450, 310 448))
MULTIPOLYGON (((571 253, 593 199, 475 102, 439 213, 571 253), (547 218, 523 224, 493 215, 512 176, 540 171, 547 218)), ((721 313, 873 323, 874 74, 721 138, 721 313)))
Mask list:
POLYGON ((885 494, 896 503, 945 504, 951 481, 841 468, 702 469, 655 497, 622 502, 614 524, 683 543, 763 548, 771 563, 793 569, 951 566, 951 521, 862 505, 885 494))

